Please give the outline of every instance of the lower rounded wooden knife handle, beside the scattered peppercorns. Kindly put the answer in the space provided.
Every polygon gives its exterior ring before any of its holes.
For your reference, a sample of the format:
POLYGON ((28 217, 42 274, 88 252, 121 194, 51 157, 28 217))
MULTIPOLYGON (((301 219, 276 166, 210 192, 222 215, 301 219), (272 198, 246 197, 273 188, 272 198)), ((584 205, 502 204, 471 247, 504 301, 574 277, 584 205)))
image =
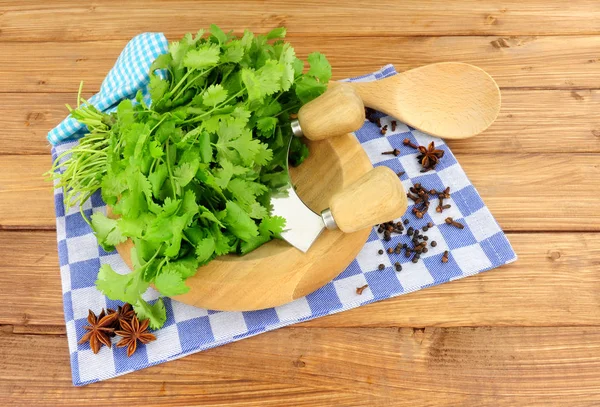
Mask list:
POLYGON ((388 167, 373 168, 329 201, 331 215, 345 233, 399 218, 407 207, 402 182, 388 167))

